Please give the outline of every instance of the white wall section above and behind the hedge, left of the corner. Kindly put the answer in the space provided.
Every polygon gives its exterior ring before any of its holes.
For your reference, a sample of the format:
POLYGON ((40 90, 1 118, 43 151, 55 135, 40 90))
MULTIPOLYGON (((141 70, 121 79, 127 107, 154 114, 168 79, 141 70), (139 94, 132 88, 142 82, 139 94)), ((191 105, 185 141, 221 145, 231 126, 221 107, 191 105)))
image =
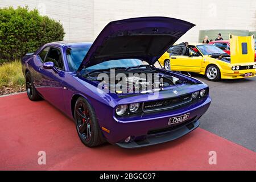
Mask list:
POLYGON ((0 7, 26 5, 59 20, 66 33, 65 40, 93 40, 93 0, 0 0, 0 7))

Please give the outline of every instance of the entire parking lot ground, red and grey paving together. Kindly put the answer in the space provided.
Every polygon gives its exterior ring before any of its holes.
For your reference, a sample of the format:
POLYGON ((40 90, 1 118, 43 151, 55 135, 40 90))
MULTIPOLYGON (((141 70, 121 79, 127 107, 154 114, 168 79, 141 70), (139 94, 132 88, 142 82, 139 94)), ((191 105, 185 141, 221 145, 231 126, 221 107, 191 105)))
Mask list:
POLYGON ((209 82, 212 105, 192 133, 172 142, 126 150, 85 147, 75 124, 46 101, 26 93, 0 98, 0 169, 214 170, 255 169, 256 78, 209 82), (38 152, 46 152, 46 165, 38 152), (208 163, 216 151, 217 164, 208 163))

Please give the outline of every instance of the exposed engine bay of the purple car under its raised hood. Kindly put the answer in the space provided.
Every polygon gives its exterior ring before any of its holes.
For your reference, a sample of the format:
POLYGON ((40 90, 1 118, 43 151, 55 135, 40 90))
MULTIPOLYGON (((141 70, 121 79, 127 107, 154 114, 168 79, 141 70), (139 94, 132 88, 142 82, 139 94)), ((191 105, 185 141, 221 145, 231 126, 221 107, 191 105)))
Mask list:
MULTIPOLYGON (((102 72, 101 72, 102 73, 102 72)), ((133 71, 123 71, 115 69, 115 72, 104 72, 104 76, 99 72, 87 75, 86 78, 100 85, 102 89, 108 89, 112 93, 151 93, 170 86, 180 84, 197 84, 181 75, 151 67, 150 69, 134 69, 133 71)))

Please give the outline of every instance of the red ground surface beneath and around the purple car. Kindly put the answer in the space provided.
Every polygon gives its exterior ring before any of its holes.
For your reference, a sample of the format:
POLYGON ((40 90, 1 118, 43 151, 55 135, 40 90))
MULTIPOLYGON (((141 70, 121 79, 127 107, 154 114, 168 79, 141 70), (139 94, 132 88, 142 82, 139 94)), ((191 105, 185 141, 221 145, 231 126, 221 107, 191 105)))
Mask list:
POLYGON ((173 142, 127 150, 85 147, 75 123, 25 93, 0 98, 1 170, 255 170, 256 154, 203 129, 173 142), (46 165, 38 152, 46 152, 46 165), (209 151, 217 152, 210 165, 209 151))

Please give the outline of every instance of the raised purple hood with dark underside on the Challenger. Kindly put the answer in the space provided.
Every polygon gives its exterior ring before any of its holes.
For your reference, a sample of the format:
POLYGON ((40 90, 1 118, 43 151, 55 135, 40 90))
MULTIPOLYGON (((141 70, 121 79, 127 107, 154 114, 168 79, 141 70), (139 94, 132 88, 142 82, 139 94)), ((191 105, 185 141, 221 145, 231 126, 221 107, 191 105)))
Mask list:
POLYGON ((142 59, 152 65, 193 26, 195 24, 167 17, 110 22, 97 36, 77 71, 116 59, 142 59))

